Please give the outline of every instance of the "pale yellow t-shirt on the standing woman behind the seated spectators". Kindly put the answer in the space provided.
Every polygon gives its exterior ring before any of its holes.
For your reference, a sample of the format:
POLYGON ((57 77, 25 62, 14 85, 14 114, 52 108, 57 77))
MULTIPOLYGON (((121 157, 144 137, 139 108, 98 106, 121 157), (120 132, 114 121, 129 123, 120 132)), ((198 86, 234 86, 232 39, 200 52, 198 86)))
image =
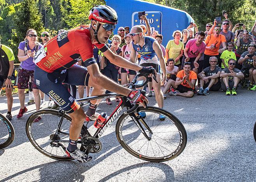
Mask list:
MULTIPOLYGON (((169 58, 173 58, 175 60, 180 55, 181 50, 184 50, 184 44, 181 41, 179 41, 179 45, 177 45, 175 44, 174 40, 170 40, 168 41, 166 48, 169 50, 168 51, 169 58)), ((180 63, 181 62, 178 60, 174 64, 177 65, 180 63)))

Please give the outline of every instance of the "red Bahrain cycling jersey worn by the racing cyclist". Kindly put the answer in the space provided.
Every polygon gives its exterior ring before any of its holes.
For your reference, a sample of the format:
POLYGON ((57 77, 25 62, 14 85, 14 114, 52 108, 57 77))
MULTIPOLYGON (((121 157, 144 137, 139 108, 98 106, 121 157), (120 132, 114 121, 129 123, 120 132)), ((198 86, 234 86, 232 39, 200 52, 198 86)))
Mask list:
POLYGON ((105 44, 93 44, 88 26, 81 25, 50 39, 44 45, 46 57, 35 62, 39 68, 50 73, 68 69, 80 60, 83 60, 87 67, 96 63, 93 57, 94 45, 101 49, 105 44))

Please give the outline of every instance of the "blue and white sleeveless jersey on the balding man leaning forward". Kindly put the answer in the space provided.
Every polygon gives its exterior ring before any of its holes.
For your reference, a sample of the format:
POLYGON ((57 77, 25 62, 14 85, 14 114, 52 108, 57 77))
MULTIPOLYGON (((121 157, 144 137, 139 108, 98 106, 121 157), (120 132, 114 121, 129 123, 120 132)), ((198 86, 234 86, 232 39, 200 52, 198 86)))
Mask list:
POLYGON ((139 44, 133 44, 133 49, 141 55, 140 65, 143 63, 151 63, 160 65, 160 61, 156 55, 156 52, 153 50, 153 43, 156 39, 144 36, 144 45, 141 47, 139 44))

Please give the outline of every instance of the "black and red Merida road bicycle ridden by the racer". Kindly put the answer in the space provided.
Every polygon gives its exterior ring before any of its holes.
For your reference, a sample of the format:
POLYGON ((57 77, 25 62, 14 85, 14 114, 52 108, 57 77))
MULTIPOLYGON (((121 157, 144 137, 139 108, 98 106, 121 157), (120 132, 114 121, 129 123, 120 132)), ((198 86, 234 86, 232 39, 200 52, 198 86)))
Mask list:
MULTIPOLYGON (((154 72, 154 69, 153 69, 154 72)), ((128 84, 130 89, 140 88, 147 84, 146 81, 137 81, 139 73, 128 84)), ((154 79, 155 76, 153 77, 154 79)), ((121 146, 131 155, 146 161, 161 162, 171 160, 182 153, 187 143, 187 134, 184 126, 171 113, 166 110, 138 104, 131 104, 126 96, 109 93, 100 96, 91 96, 77 101, 89 101, 119 97, 120 102, 114 112, 107 118, 105 124, 91 135, 88 131, 88 122, 82 126, 78 140, 80 150, 88 155, 97 153, 102 149, 99 138, 107 130, 109 125, 121 113, 116 123, 116 137, 121 146), (139 112, 146 112, 142 118, 139 112), (159 115, 164 115, 165 120, 159 120, 159 115)), ((26 134, 32 145, 40 153, 62 161, 73 160, 65 153, 69 142, 68 128, 71 118, 63 110, 40 110, 33 113, 26 122, 26 134), (34 120, 41 116, 40 122, 34 120)), ((89 128, 91 129, 91 128, 89 128)))

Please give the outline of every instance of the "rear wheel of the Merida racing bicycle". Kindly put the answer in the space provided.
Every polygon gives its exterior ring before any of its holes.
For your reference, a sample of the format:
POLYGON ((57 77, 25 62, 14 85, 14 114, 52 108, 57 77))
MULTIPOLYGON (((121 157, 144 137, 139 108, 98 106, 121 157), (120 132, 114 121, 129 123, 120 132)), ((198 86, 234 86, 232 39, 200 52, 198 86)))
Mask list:
MULTIPOLYGON (((61 161, 74 160, 73 158, 67 156, 65 150, 62 149, 61 146, 51 146, 52 140, 50 137, 56 132, 60 119, 61 115, 59 114, 58 110, 44 109, 34 112, 26 122, 26 134, 32 145, 43 155, 61 161), (41 120, 39 122, 34 122, 34 120, 39 116, 41 117, 41 120), (49 150, 47 150, 48 147, 49 150), (55 151, 55 149, 56 153, 54 154, 53 152, 55 151)), ((67 130, 67 128, 69 129, 71 120, 72 119, 70 118, 70 116, 65 113, 63 122, 65 121, 66 123, 65 129, 63 129, 63 131, 67 130)), ((62 124, 61 126, 63 125, 64 124, 62 124)), ((63 135, 63 137, 66 137, 68 139, 69 135, 63 135)), ((61 144, 67 147, 67 143, 61 144)))

